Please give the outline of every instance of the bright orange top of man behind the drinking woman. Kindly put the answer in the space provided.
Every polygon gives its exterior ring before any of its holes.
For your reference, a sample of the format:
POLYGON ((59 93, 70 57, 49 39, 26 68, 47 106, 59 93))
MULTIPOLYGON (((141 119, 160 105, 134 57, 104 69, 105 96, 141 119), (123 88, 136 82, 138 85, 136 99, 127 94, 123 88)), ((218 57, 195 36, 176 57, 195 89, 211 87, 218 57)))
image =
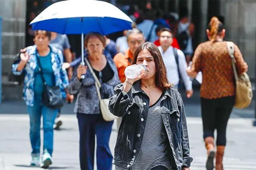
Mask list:
POLYGON ((117 71, 118 71, 118 76, 119 76, 122 83, 126 79, 125 74, 124 74, 124 70, 127 66, 131 65, 132 58, 133 58, 133 54, 130 51, 130 49, 126 50, 124 54, 123 53, 118 53, 114 57, 114 62, 116 63, 116 68, 117 68, 117 71))

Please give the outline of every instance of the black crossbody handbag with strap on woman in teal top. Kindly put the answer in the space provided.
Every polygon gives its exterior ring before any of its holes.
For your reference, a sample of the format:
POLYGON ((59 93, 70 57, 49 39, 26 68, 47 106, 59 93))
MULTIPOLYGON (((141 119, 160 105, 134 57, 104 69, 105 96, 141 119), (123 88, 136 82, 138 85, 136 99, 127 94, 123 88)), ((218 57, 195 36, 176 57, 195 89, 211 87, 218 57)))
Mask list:
POLYGON ((42 102, 45 106, 52 109, 58 109, 63 106, 62 94, 59 86, 48 86, 44 80, 42 73, 42 67, 38 56, 36 55, 38 61, 39 72, 42 76, 44 82, 44 90, 42 95, 42 102))

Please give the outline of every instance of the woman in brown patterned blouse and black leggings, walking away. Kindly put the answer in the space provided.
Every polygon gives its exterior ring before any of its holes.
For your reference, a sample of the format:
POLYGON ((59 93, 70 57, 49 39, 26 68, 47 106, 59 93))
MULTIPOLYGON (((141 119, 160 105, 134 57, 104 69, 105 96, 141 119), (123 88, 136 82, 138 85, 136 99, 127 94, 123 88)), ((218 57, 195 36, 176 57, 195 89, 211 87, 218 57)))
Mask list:
MULTIPOLYGON (((207 170, 214 168, 214 130, 217 129, 216 170, 223 170, 222 159, 226 146, 226 126, 235 100, 234 72, 231 57, 225 41, 224 25, 213 17, 209 23, 207 35, 209 41, 196 48, 188 75, 195 77, 202 72, 200 89, 201 112, 204 129, 204 141, 208 153, 207 170)), ((248 65, 234 45, 234 57, 238 74, 246 72, 248 65)))

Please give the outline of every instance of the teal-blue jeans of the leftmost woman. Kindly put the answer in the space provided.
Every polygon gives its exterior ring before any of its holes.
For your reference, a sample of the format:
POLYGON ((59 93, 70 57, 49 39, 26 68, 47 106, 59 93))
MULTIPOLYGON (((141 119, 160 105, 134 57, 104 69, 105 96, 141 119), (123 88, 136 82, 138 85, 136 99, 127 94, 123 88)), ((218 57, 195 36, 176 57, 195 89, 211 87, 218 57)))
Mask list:
POLYGON ((53 150, 53 124, 58 109, 51 109, 42 104, 42 97, 35 96, 34 106, 27 106, 30 118, 30 143, 32 155, 40 154, 40 124, 43 117, 44 147, 52 156, 53 150))

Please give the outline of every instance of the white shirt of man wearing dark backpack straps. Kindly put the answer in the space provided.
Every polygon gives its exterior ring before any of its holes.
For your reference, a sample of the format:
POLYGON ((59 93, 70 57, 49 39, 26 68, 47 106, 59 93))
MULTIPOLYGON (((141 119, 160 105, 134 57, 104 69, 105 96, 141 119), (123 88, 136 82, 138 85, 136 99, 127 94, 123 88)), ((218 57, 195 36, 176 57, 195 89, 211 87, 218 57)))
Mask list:
MULTIPOLYGON (((173 83, 174 85, 177 85, 180 81, 179 78, 179 73, 178 73, 178 66, 175 60, 174 56, 174 49, 172 46, 170 46, 165 52, 162 49, 161 46, 158 47, 160 50, 164 64, 166 66, 166 71, 167 71, 167 78, 170 83, 173 83)), ((178 54, 178 63, 179 63, 179 71, 181 78, 184 82, 186 90, 192 90, 192 81, 190 80, 186 68, 187 68, 187 63, 185 59, 184 53, 177 49, 177 54, 178 54)))

